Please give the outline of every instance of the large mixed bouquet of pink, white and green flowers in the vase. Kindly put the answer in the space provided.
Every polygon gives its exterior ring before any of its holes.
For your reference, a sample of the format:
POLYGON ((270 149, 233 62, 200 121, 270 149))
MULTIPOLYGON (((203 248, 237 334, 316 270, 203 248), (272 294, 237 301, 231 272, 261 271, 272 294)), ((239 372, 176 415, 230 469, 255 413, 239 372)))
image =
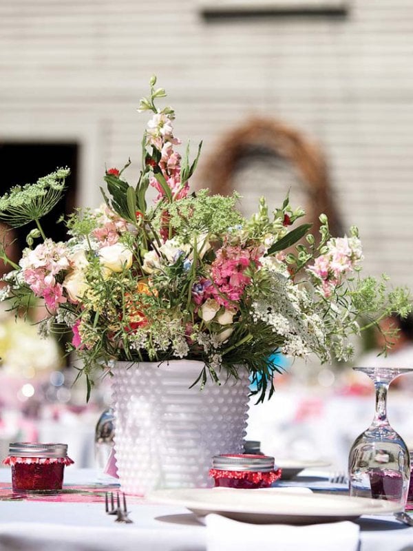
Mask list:
POLYGON ((332 237, 321 214, 319 236, 287 198, 268 212, 264 198, 246 220, 239 196, 189 191, 198 155, 181 156, 171 107, 156 106, 165 90, 150 81, 139 112, 151 112, 142 141, 142 170, 130 185, 123 169, 105 172, 105 204, 66 220, 70 239, 47 238, 39 221, 63 194, 69 169, 0 198, 0 218, 18 227, 34 222, 3 299, 21 310, 35 295, 45 302, 40 331, 72 331, 70 350, 87 377, 109 360, 200 360, 194 384, 219 382, 248 368, 260 399, 273 392, 277 355, 321 362, 347 360, 352 335, 390 312, 407 315, 410 293, 386 289, 386 278, 361 277, 357 228, 332 237), (158 196, 147 204, 147 190, 158 196), (41 239, 39 244, 36 241, 41 239))

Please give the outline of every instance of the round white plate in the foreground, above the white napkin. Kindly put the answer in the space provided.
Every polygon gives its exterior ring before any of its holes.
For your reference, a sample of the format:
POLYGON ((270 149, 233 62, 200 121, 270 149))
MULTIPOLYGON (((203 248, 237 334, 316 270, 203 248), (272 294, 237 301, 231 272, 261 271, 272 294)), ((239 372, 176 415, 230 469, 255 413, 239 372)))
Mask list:
POLYGON ((197 517, 215 512, 237 521, 257 524, 313 524, 357 519, 362 514, 391 514, 400 507, 391 501, 326 494, 301 494, 277 488, 182 488, 156 490, 149 501, 182 506, 197 517))

